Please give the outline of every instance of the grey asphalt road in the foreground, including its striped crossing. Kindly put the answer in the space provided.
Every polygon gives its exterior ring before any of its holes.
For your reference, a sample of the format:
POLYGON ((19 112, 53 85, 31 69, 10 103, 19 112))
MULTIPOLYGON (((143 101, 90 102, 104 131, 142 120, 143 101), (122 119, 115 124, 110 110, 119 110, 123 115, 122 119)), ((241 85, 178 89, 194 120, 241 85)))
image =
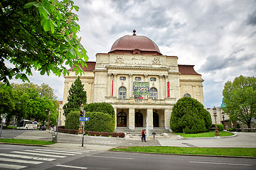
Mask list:
POLYGON ((255 159, 0 145, 0 169, 256 169, 255 159), (31 162, 33 161, 33 162, 31 162), (23 162, 23 163, 22 163, 23 162))

